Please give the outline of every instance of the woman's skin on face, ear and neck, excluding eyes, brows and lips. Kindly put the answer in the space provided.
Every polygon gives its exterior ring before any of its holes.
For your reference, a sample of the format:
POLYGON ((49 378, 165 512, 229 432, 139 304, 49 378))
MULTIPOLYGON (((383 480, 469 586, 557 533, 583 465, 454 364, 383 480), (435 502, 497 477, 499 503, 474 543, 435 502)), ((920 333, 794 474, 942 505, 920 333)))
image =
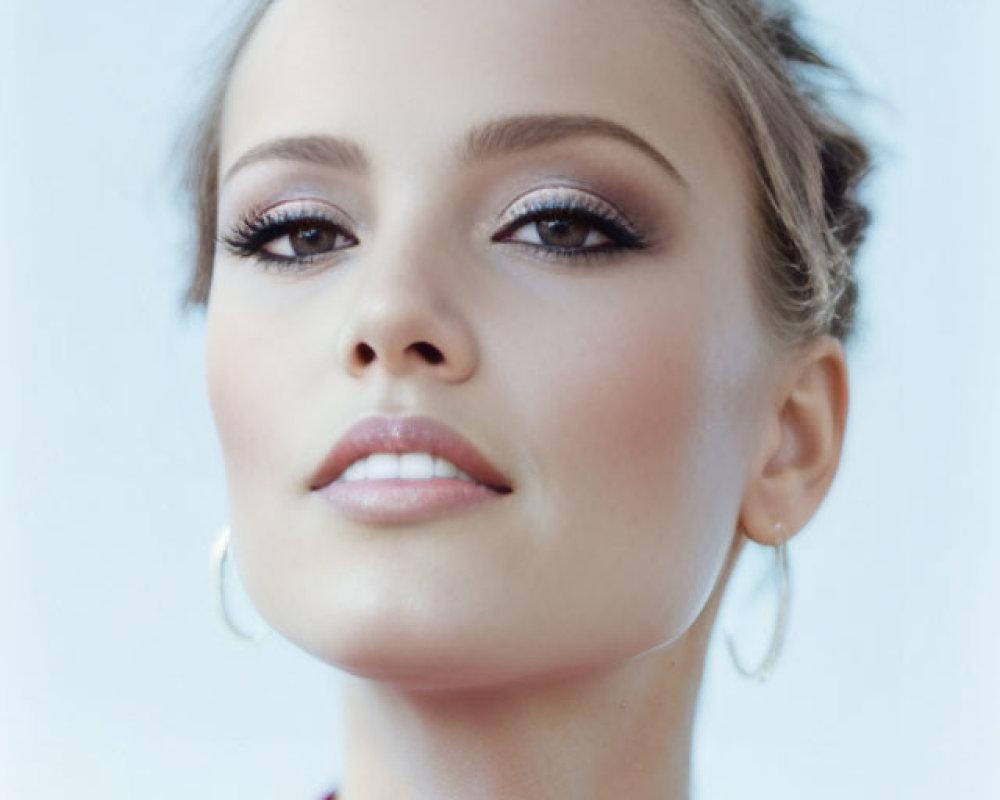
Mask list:
POLYGON ((281 137, 346 137, 369 162, 223 180, 222 236, 308 198, 351 238, 285 271, 220 247, 207 331, 241 575, 272 627, 350 674, 346 800, 686 797, 739 531, 776 544, 826 494, 843 350, 770 333, 744 151, 693 41, 652 0, 279 0, 242 54, 222 175, 281 137), (612 120, 681 177, 599 135, 463 152, 529 114, 612 120), (497 238, 553 186, 648 246, 497 238), (310 491, 353 423, 404 413, 446 421, 514 491, 389 526, 310 491))

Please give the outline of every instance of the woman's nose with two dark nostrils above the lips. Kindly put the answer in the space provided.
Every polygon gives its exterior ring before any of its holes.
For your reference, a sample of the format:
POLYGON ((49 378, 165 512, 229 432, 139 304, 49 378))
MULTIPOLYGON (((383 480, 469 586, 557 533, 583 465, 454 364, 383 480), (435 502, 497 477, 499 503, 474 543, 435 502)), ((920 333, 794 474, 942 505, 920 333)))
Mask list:
POLYGON ((424 374, 459 383, 476 370, 478 348, 443 265, 416 258, 366 264, 338 351, 349 374, 424 374))

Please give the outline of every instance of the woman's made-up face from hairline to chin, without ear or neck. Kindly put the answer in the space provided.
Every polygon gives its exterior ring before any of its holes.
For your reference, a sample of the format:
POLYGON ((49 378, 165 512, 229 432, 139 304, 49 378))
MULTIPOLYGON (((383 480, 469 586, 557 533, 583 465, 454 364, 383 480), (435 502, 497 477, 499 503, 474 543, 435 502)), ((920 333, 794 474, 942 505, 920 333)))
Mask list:
POLYGON ((225 109, 208 383, 240 571, 289 639, 458 688, 607 667, 699 614, 772 356, 693 47, 662 0, 268 13, 225 109), (373 419, 348 461, 462 460, 393 438, 414 416, 507 491, 319 488, 373 419))

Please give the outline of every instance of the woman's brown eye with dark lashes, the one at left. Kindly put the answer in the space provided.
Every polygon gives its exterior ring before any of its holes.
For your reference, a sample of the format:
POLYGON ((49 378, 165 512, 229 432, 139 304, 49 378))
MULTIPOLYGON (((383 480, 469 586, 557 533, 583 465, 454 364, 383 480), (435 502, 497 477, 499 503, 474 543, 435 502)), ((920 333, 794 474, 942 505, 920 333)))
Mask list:
POLYGON ((265 214, 241 222, 223 244, 234 255, 272 264, 307 264, 354 247, 347 229, 322 216, 265 214))

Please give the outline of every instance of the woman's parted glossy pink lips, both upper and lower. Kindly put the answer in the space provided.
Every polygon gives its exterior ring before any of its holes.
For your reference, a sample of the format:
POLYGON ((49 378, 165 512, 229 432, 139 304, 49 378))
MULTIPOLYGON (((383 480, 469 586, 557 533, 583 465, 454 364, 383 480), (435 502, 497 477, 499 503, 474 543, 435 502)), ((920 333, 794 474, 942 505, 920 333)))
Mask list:
POLYGON ((311 488, 348 518, 376 524, 421 522, 513 491, 510 480, 467 439, 416 416, 369 417, 352 426, 324 459, 311 488), (426 453, 465 476, 343 478, 348 467, 374 453, 426 453))

